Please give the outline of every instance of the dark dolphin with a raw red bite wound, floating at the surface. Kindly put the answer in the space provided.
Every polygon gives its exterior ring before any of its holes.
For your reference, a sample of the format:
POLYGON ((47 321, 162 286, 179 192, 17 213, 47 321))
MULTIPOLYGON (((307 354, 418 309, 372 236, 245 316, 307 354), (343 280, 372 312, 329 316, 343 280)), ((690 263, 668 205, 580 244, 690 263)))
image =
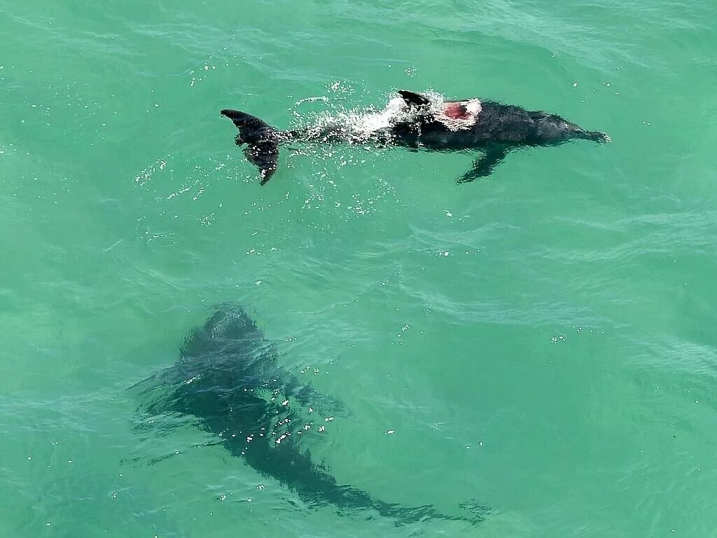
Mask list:
POLYGON ((253 115, 225 108, 221 114, 239 129, 237 146, 260 171, 261 184, 274 175, 279 147, 285 143, 348 142, 400 146, 412 151, 479 151, 458 183, 489 176, 509 151, 557 146, 571 140, 609 142, 600 131, 587 131, 561 116, 478 98, 445 100, 437 93, 400 90, 384 110, 331 118, 315 126, 279 131, 253 115))

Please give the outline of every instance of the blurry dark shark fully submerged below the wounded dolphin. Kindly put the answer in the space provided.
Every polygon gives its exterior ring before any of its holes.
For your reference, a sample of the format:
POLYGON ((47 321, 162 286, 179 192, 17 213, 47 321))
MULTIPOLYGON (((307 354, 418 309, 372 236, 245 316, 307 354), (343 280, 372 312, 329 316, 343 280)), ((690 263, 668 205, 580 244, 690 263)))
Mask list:
MULTIPOLYGON (((186 336, 173 367, 141 382, 143 415, 192 420, 217 437, 232 456, 293 491, 308 506, 333 505, 340 513, 376 511, 396 524, 456 520, 477 524, 490 508, 470 501, 459 515, 431 505, 401 506, 337 483, 302 443, 321 430, 332 402, 282 368, 275 346, 235 303, 217 306, 204 326, 186 336), (465 511, 465 512, 464 512, 465 511)), ((149 421, 152 422, 152 421, 149 421)), ((143 429, 146 429, 143 427, 143 429)))

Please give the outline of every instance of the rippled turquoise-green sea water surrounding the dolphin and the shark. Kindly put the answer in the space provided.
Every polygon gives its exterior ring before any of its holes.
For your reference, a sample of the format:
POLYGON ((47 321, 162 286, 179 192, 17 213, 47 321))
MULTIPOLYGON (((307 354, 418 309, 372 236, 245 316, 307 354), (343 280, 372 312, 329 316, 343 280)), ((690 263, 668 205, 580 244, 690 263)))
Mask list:
POLYGON ((0 537, 713 535, 713 2, 0 15, 0 537), (218 115, 399 88, 613 143, 467 185, 468 155, 308 148, 259 187, 218 115), (340 483, 485 521, 310 509, 197 428, 138 435, 128 387, 221 301, 346 405, 312 447, 340 483))

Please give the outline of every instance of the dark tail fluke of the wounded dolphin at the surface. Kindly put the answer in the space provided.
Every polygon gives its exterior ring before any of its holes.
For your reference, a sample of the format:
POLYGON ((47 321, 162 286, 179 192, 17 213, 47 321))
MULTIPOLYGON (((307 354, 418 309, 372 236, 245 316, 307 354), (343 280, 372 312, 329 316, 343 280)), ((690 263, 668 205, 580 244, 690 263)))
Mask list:
POLYGON ((244 155, 247 161, 259 168, 261 184, 266 184, 274 175, 279 161, 279 131, 265 121, 239 110, 225 108, 221 114, 232 120, 239 129, 237 146, 247 144, 244 155))

